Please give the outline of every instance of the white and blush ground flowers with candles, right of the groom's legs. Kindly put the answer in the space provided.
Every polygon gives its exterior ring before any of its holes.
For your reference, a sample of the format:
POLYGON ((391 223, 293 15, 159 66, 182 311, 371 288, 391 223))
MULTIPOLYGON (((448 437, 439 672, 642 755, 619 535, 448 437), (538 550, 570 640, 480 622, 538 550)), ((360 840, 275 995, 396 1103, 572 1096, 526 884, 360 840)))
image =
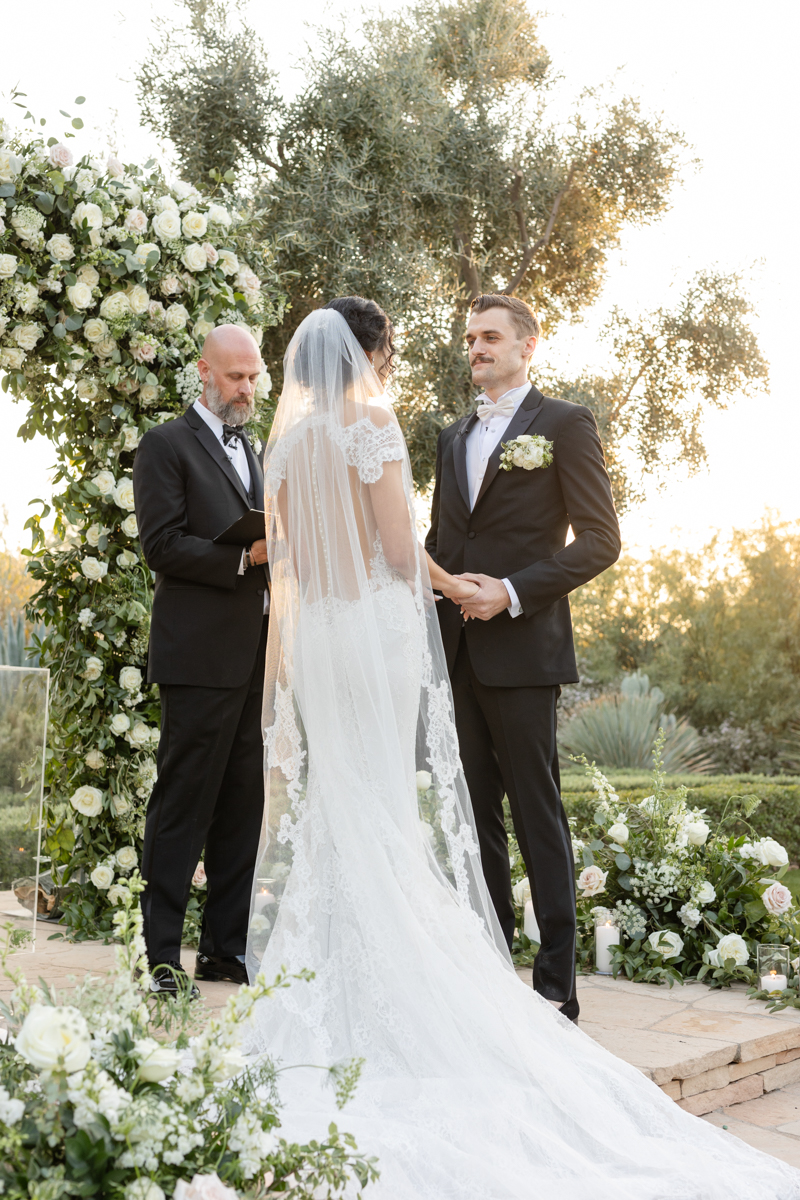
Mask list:
MULTIPOLYGON (((593 822, 572 826, 578 889, 577 966, 595 967, 595 923, 620 932, 612 948, 612 973, 646 983, 702 979, 711 986, 734 980, 754 985, 756 947, 789 947, 795 972, 784 997, 798 1000, 800 913, 783 883, 788 853, 772 838, 759 838, 748 818, 758 797, 732 798, 711 827, 703 809, 690 808, 687 788, 669 790, 661 760, 663 733, 654 749, 652 794, 625 800, 585 758, 597 793, 593 822), (744 829, 746 832, 739 832, 744 829)), ((518 847, 511 845, 519 930, 530 889, 518 847)), ((523 932, 518 960, 536 949, 523 932)), ((758 990, 753 995, 768 998, 758 990)), ((800 1001, 798 1001, 800 1007, 800 1001)))

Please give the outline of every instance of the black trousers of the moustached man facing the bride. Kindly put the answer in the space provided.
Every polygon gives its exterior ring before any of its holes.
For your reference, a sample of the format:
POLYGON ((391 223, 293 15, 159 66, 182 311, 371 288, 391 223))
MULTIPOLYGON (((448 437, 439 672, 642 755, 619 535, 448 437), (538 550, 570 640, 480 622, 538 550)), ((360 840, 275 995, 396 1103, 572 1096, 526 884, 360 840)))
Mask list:
POLYGON ((541 934, 534 989, 547 1000, 565 1002, 565 1015, 575 1018, 575 864, 555 744, 555 704, 561 689, 482 684, 473 670, 463 632, 452 689, 483 875, 500 926, 511 944, 515 912, 503 816, 505 793, 541 934))

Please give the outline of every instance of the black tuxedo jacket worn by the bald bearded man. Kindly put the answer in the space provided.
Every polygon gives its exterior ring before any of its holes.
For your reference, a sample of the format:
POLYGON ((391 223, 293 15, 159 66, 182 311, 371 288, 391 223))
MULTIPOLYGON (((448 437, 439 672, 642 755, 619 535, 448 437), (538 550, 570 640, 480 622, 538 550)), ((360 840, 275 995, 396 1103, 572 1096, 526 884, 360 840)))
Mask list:
MULTIPOLYGON (((264 508, 264 474, 248 443, 252 506, 264 508)), ((149 430, 133 463, 139 538, 156 572, 148 682, 237 688, 253 670, 266 572, 239 575, 241 546, 213 538, 251 508, 219 440, 188 408, 149 430)))

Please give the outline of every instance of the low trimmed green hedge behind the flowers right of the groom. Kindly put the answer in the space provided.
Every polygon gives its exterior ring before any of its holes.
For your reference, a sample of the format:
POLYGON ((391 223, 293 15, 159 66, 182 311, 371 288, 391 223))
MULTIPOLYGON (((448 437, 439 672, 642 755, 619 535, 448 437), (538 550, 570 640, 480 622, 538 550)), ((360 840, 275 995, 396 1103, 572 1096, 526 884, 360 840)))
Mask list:
MULTIPOLYGON (((622 799, 643 800, 652 793, 650 776, 642 772, 606 772, 622 799)), ((668 787, 690 788, 690 804, 705 809, 718 821, 732 796, 758 796, 760 805, 750 823, 760 838, 775 838, 789 852, 789 862, 800 862, 800 776, 798 775, 669 775, 668 787)), ((597 793, 587 787, 583 773, 567 772, 561 778, 561 794, 567 816, 577 818, 578 829, 591 821, 597 793)), ((733 827, 735 828, 735 827, 733 827)), ((742 824, 740 833, 746 832, 742 824)))

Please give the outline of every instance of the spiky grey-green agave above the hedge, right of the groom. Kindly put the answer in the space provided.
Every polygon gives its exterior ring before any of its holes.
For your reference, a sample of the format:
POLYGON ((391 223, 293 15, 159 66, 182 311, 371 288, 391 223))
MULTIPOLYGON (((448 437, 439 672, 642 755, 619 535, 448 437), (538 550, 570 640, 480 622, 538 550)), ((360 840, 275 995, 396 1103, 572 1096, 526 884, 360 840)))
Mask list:
POLYGON ((664 694, 640 671, 626 676, 620 691, 590 701, 559 732, 563 757, 585 755, 602 767, 648 770, 652 744, 664 731, 663 764, 670 774, 708 773, 712 761, 699 733, 685 718, 664 712, 664 694))

